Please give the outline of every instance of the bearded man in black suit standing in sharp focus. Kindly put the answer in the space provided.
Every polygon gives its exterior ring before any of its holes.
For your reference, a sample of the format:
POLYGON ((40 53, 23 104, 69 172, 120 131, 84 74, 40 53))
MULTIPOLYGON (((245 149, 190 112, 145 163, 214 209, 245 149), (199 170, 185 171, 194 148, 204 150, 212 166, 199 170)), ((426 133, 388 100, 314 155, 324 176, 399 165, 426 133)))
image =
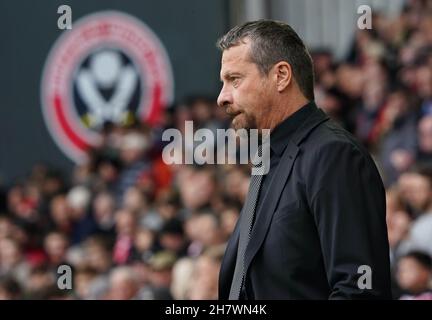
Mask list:
POLYGON ((270 169, 251 178, 219 298, 390 299, 382 180, 365 148, 315 105, 302 40, 260 20, 218 45, 218 105, 235 129, 271 132, 270 169))

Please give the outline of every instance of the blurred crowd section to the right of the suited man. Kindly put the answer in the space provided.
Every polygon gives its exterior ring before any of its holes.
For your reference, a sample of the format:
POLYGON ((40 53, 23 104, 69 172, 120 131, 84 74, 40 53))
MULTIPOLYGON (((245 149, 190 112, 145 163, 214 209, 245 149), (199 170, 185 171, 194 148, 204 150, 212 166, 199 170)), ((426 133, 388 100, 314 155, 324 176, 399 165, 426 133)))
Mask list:
POLYGON ((383 178, 394 297, 432 299, 432 2, 373 14, 345 61, 313 58, 317 105, 368 147, 383 178))

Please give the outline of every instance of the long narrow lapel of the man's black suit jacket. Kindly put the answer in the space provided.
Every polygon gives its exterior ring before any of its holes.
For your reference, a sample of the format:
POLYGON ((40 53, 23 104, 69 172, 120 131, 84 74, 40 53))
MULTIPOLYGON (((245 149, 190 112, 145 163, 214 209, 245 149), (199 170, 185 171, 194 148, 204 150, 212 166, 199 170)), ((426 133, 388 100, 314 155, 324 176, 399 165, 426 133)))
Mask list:
POLYGON ((299 129, 297 129, 293 137, 288 142, 288 145, 276 168, 276 173, 273 175, 270 187, 264 195, 263 204, 260 206, 260 210, 256 213, 256 221, 254 223, 251 238, 248 247, 246 248, 245 254, 246 274, 248 272, 252 259, 258 252, 267 234, 271 220, 273 218, 273 214, 276 209, 276 205, 278 204, 281 197, 282 189, 284 188, 288 180, 288 176, 291 173, 291 169, 297 158, 301 141, 306 138, 306 136, 315 127, 328 119, 328 116, 322 110, 317 109, 312 115, 310 115, 306 119, 306 121, 299 127, 299 129))

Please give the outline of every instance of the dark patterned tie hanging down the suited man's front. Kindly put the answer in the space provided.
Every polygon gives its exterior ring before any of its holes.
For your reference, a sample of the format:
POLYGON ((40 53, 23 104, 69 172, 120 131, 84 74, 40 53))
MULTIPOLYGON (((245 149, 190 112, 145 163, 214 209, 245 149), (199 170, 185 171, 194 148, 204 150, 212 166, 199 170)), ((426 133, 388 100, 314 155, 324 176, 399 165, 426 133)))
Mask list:
MULTIPOLYGON (((262 155, 262 147, 258 147, 258 155, 262 155)), ((229 294, 230 300, 238 300, 240 291, 244 281, 244 258, 246 247, 249 243, 250 234, 252 231, 252 223, 254 220, 255 210, 258 202, 258 194, 261 187, 261 182, 264 177, 264 163, 254 165, 255 174, 252 171, 251 181, 249 184, 249 191, 246 196, 245 205, 240 215, 240 238, 237 248, 237 260, 234 269, 233 281, 231 283, 231 290, 229 294), (258 169, 258 170, 257 170, 258 169)))

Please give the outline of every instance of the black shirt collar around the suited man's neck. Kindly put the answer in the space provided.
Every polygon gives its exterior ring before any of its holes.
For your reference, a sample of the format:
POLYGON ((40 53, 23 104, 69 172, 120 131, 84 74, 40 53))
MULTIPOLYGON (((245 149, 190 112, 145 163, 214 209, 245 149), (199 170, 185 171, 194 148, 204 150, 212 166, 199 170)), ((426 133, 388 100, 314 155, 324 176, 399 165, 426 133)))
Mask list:
POLYGON ((317 106, 311 101, 279 123, 270 133, 271 150, 281 156, 291 136, 316 109, 317 106))

